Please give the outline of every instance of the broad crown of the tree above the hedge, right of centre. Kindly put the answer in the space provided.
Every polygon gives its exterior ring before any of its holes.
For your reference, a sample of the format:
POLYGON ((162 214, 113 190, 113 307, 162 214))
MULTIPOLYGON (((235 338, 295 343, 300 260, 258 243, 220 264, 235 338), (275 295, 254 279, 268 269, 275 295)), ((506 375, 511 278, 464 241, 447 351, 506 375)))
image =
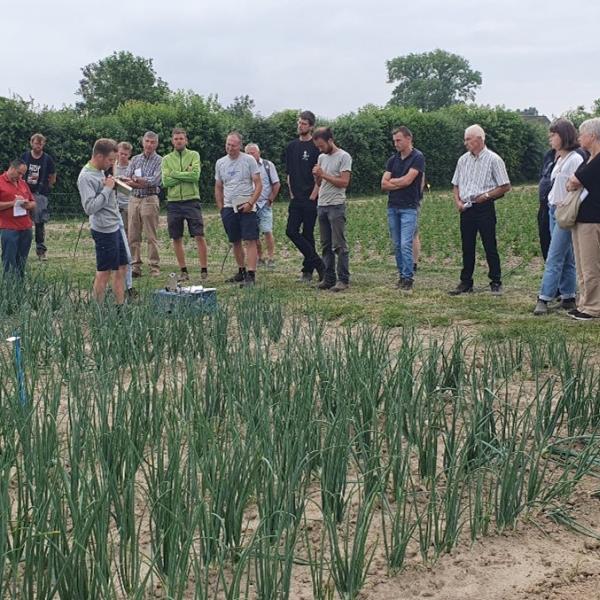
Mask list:
POLYGON ((481 73, 469 61, 445 50, 407 54, 387 61, 388 83, 398 82, 390 104, 425 111, 474 100, 481 73))

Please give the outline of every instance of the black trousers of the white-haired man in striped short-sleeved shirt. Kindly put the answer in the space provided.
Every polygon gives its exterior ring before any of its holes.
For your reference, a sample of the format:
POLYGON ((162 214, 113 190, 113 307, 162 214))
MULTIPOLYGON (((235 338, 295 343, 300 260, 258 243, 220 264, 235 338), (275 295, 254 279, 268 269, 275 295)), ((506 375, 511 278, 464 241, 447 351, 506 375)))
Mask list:
POLYGON ((496 208, 493 202, 475 204, 460 213, 460 236, 463 252, 460 280, 467 285, 473 285, 477 234, 480 235, 485 250, 489 268, 488 277, 492 283, 502 283, 500 255, 496 244, 496 208))

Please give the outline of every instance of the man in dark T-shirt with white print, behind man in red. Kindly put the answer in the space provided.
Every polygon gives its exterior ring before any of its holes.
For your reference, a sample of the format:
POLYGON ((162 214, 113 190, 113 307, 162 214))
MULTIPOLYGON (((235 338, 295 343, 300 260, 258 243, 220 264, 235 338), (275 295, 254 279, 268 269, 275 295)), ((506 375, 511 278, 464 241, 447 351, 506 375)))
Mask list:
POLYGON ((48 196, 50 188, 56 183, 56 167, 53 158, 44 152, 46 138, 34 133, 30 139, 31 150, 23 154, 21 160, 27 165, 25 181, 35 198, 36 209, 33 215, 35 224, 35 249, 40 260, 46 260, 46 231, 48 222, 48 196))

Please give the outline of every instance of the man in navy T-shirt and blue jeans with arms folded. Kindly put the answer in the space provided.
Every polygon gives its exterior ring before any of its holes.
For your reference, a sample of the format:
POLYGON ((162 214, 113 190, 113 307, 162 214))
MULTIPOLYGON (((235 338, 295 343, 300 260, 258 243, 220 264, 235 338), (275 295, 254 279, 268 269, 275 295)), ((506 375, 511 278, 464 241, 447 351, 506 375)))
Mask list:
POLYGON ((425 157, 413 148, 413 136, 408 127, 394 129, 392 139, 397 152, 387 161, 381 189, 388 192, 388 225, 399 274, 397 287, 410 292, 414 281, 413 238, 425 157))

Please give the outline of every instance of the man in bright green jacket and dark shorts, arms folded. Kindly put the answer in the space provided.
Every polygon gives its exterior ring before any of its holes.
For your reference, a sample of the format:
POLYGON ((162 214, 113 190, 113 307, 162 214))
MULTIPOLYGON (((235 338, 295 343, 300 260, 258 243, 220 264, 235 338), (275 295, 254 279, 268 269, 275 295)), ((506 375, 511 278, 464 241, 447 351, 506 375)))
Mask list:
POLYGON ((196 239, 200 258, 200 277, 208 277, 208 248, 204 239, 204 221, 200 206, 200 155, 187 148, 187 133, 179 127, 171 134, 173 152, 163 157, 162 184, 167 191, 167 225, 177 263, 181 269, 179 281, 189 281, 183 251, 183 227, 187 221, 191 237, 196 239))

